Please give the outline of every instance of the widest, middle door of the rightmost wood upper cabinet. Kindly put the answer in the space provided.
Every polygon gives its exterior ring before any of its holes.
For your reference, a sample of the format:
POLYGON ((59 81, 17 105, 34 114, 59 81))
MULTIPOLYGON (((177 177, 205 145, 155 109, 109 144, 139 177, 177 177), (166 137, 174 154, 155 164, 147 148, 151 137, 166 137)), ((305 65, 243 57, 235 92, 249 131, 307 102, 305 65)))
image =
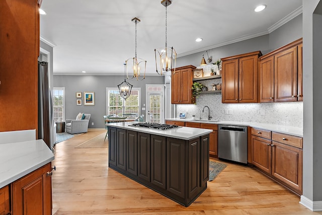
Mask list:
POLYGON ((274 101, 297 101, 297 47, 274 55, 274 101))

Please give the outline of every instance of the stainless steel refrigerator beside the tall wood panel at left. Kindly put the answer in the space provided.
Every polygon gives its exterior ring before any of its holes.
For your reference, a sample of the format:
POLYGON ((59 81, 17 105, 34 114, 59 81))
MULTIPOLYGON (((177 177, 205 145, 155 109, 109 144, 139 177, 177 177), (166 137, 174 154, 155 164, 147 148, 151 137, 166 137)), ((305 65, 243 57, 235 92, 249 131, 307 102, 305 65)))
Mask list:
POLYGON ((48 62, 38 61, 38 139, 51 149, 53 142, 53 100, 49 87, 48 62))

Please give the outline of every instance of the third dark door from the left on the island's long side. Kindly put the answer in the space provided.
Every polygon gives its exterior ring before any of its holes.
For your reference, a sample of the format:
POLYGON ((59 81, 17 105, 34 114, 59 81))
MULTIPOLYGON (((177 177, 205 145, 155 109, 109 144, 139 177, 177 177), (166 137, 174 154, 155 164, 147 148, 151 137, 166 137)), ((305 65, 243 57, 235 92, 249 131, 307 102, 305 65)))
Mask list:
POLYGON ((126 171, 137 176, 137 132, 126 131, 126 171))

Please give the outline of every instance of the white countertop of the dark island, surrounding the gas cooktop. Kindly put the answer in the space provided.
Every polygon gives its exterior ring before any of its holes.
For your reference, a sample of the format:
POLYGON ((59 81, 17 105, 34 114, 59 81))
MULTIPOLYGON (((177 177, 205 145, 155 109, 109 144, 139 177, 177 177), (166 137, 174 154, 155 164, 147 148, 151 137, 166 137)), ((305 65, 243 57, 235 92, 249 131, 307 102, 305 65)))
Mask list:
POLYGON ((129 126, 133 123, 137 123, 137 122, 116 122, 116 123, 109 123, 108 126, 116 127, 116 128, 124 128, 127 130, 139 131, 143 133, 150 133, 150 134, 155 134, 160 136, 184 139, 184 140, 193 139, 198 136, 202 136, 212 132, 211 129, 192 128, 192 127, 178 127, 178 128, 169 129, 169 130, 158 130, 158 129, 151 129, 151 128, 145 128, 145 127, 129 126))

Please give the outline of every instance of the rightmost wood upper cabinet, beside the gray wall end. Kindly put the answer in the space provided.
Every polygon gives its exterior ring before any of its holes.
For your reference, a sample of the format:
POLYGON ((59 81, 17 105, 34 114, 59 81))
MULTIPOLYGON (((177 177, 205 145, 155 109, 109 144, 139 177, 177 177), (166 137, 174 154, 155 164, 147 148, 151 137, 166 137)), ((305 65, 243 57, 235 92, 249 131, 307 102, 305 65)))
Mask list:
POLYGON ((303 101, 302 39, 260 57, 260 102, 303 101))

